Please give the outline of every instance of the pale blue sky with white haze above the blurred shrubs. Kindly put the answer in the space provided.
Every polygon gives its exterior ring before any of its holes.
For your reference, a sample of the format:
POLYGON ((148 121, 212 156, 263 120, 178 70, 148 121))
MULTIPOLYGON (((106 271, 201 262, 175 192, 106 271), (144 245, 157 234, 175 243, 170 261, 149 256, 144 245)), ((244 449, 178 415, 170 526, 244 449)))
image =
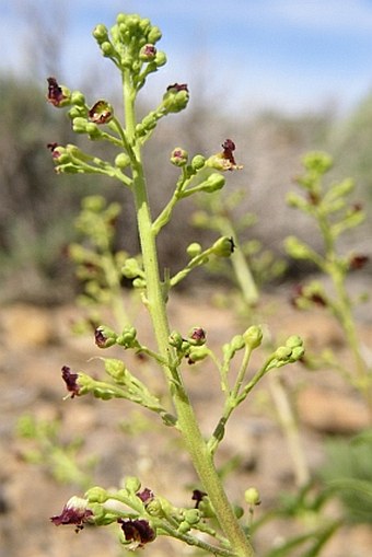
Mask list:
POLYGON ((125 11, 163 31, 158 46, 168 63, 151 78, 159 91, 187 82, 228 109, 307 112, 348 109, 372 90, 372 0, 0 0, 0 68, 30 66, 34 9, 61 40, 61 81, 71 88, 94 69, 104 92, 101 77, 113 73, 91 31, 125 11))

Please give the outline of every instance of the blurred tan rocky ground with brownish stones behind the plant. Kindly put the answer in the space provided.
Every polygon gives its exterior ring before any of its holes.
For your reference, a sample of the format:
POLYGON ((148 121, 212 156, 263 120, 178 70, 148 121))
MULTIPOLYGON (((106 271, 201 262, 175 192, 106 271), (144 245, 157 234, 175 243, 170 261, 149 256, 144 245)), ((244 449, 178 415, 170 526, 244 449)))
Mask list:
MULTIPOLYGON (((271 335, 279 340, 297 333, 313 351, 332 347, 347 360, 349 356, 338 326, 322 310, 299 313, 288 303, 287 294, 268 295, 263 304, 265 311, 258 310, 257 321, 267 323, 271 335)), ((176 297, 171 303, 171 317, 173 327, 182 333, 194 325, 204 326, 209 345, 218 347, 244 325, 234 317, 231 307, 217 309, 211 304, 210 297, 176 297)), ((102 351, 91 339, 70 334, 75 316, 72 306, 48 310, 13 304, 1 312, 1 557, 118 557, 125 554, 114 532, 107 529, 86 527, 77 535, 70 527, 50 524, 48 518, 58 514, 69 497, 80 490, 58 484, 50 475, 50 463, 25 462, 26 451, 34 445, 15 436, 18 419, 25 413, 47 420, 60 418, 61 441, 67 443, 77 437, 84 441, 83 454, 97 457, 94 481, 105 487, 119 485, 127 475, 138 475, 143 485, 155 492, 168 497, 175 504, 185 504, 189 501, 189 486, 195 485, 193 469, 179 449, 176 434, 171 429, 164 430, 152 416, 141 417, 137 408, 126 402, 88 397, 62 399, 66 391, 60 379, 61 365, 91 373, 102 370, 100 360, 91 359, 102 356, 102 351)), ((151 346, 144 310, 138 312, 136 323, 141 339, 151 346)), ((360 332, 364 345, 371 347, 372 322, 368 315, 360 323, 360 332)), ((115 350, 109 353, 117 356, 115 350)), ((259 356, 256 358, 258 362, 259 356)), ((161 376, 148 362, 129 363, 140 369, 153 388, 161 391, 161 376)), ((209 363, 186 368, 185 373, 201 427, 208 433, 216 423, 221 403, 218 376, 209 363)), ((309 372, 301 365, 292 365, 281 370, 280 376, 287 391, 295 394, 301 444, 313 472, 324 459, 326 434, 346 437, 368 426, 365 406, 334 370, 309 372)), ((242 492, 247 487, 254 485, 259 489, 263 503, 257 509, 258 517, 272 504, 280 490, 291 491, 295 484, 290 451, 276 417, 272 402, 276 393, 276 381, 266 378, 232 418, 218 460, 221 465, 236 457, 237 467, 226 479, 232 498, 242 502, 242 492)), ((333 503, 326 512, 337 514, 339 508, 333 503)), ((264 556, 268 547, 300 527, 303 525, 286 520, 263 529, 256 538, 257 555, 264 556)), ((152 557, 193 555, 189 548, 166 539, 156 541, 144 552, 152 557)), ((344 526, 322 553, 324 557, 371 555, 372 533, 365 525, 344 526)))

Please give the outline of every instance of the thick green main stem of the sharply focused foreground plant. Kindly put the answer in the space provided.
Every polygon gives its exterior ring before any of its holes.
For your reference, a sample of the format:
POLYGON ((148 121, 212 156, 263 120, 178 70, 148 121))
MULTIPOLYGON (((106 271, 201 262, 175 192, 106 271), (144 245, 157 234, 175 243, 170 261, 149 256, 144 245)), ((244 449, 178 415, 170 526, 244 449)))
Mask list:
MULTIPOLYGON (((133 195, 147 281, 147 304, 159 351, 167 361, 170 357, 170 326, 160 280, 158 252, 155 237, 152 232, 152 219, 141 160, 141 148, 135 140, 135 94, 128 85, 128 80, 124 82, 124 93, 126 128, 128 140, 132 144, 135 155, 131 161, 133 195)), ((254 550, 237 522, 217 473, 213 459, 201 436, 194 409, 183 385, 181 373, 177 369, 171 369, 171 367, 164 367, 164 373, 168 384, 172 386, 172 395, 177 413, 179 430, 182 431, 195 469, 204 489, 210 498, 224 535, 229 539, 231 548, 236 557, 254 557, 254 550)))

